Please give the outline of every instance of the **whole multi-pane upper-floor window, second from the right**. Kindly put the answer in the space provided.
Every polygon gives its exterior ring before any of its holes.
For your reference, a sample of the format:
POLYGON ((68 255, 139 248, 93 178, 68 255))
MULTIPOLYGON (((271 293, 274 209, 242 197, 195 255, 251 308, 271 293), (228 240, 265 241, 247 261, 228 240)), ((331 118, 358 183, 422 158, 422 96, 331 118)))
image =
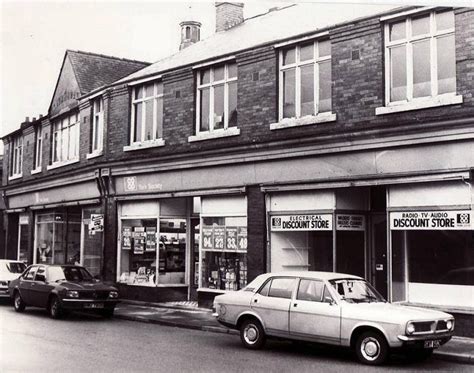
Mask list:
POLYGON ((279 120, 331 111, 331 44, 309 41, 280 51, 279 120))

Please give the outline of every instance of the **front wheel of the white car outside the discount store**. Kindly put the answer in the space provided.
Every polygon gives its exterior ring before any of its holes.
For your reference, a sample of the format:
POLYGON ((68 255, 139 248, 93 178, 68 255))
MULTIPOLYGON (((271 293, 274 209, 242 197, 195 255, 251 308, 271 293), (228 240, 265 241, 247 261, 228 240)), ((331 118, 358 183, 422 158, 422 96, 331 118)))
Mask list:
POLYGON ((368 331, 357 338, 355 351, 361 363, 380 365, 387 360, 388 344, 380 333, 368 331))

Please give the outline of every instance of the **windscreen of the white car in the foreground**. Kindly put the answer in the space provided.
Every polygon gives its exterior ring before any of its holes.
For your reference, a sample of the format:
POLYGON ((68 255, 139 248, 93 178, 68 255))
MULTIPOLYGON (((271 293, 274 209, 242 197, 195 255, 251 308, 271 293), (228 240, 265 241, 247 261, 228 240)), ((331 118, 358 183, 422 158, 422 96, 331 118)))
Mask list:
POLYGON ((337 279, 331 280, 341 298, 350 303, 385 302, 385 299, 365 280, 337 279))

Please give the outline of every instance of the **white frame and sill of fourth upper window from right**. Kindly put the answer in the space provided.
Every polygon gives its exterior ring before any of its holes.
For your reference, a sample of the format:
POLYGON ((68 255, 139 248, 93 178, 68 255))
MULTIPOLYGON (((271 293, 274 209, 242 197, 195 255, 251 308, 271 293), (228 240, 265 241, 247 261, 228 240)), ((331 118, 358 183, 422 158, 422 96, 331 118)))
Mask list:
MULTIPOLYGON (((162 137, 156 137, 156 130, 158 126, 158 99, 161 99, 162 105, 164 105, 164 85, 163 81, 157 80, 153 82, 153 96, 150 97, 141 97, 141 98, 135 98, 136 92, 140 90, 140 88, 143 88, 144 95, 146 94, 146 86, 150 85, 150 82, 143 83, 137 86, 134 86, 132 89, 132 117, 131 117, 131 122, 130 122, 130 145, 125 146, 124 150, 134 150, 134 149, 140 149, 143 147, 151 147, 151 146, 162 146, 164 145, 163 141, 163 135, 162 137), (161 93, 158 93, 158 85, 162 85, 162 91, 161 93), (149 102, 153 102, 153 138, 151 140, 144 140, 145 138, 145 123, 146 123, 146 105, 149 102), (141 138, 140 140, 136 141, 134 139, 134 133, 135 133, 135 115, 136 115, 136 105, 142 103, 143 105, 143 110, 142 110, 142 115, 141 115, 141 138)), ((164 109, 164 108, 163 108, 164 109)), ((161 125, 163 127, 163 122, 164 122, 164 110, 162 110, 163 113, 163 118, 161 120, 161 125)), ((163 134, 163 128, 161 129, 161 132, 163 134)))

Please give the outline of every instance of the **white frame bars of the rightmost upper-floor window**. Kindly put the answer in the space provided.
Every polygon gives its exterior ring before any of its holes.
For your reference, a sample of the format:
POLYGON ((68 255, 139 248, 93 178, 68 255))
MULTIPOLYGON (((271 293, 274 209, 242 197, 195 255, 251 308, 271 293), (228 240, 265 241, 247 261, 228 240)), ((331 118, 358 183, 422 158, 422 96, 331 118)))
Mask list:
MULTIPOLYGON (((412 36, 412 18, 423 16, 423 13, 416 13, 404 19, 390 20, 384 25, 384 42, 385 42, 385 105, 406 105, 417 101, 432 100, 434 97, 455 96, 456 89, 453 92, 438 95, 438 59, 437 59, 437 39, 448 35, 454 35, 455 27, 437 31, 436 30, 436 11, 425 13, 429 14, 430 32, 427 34, 412 36), (390 41, 390 25, 404 20, 405 22, 405 38, 390 41), (413 44, 423 40, 430 41, 430 80, 431 95, 425 97, 413 97, 413 44), (390 101, 390 89, 392 85, 392 70, 390 64, 390 50, 394 47, 406 47, 406 74, 407 74, 407 97, 405 100, 390 101)), ((456 102, 457 103, 457 102, 456 102)))

